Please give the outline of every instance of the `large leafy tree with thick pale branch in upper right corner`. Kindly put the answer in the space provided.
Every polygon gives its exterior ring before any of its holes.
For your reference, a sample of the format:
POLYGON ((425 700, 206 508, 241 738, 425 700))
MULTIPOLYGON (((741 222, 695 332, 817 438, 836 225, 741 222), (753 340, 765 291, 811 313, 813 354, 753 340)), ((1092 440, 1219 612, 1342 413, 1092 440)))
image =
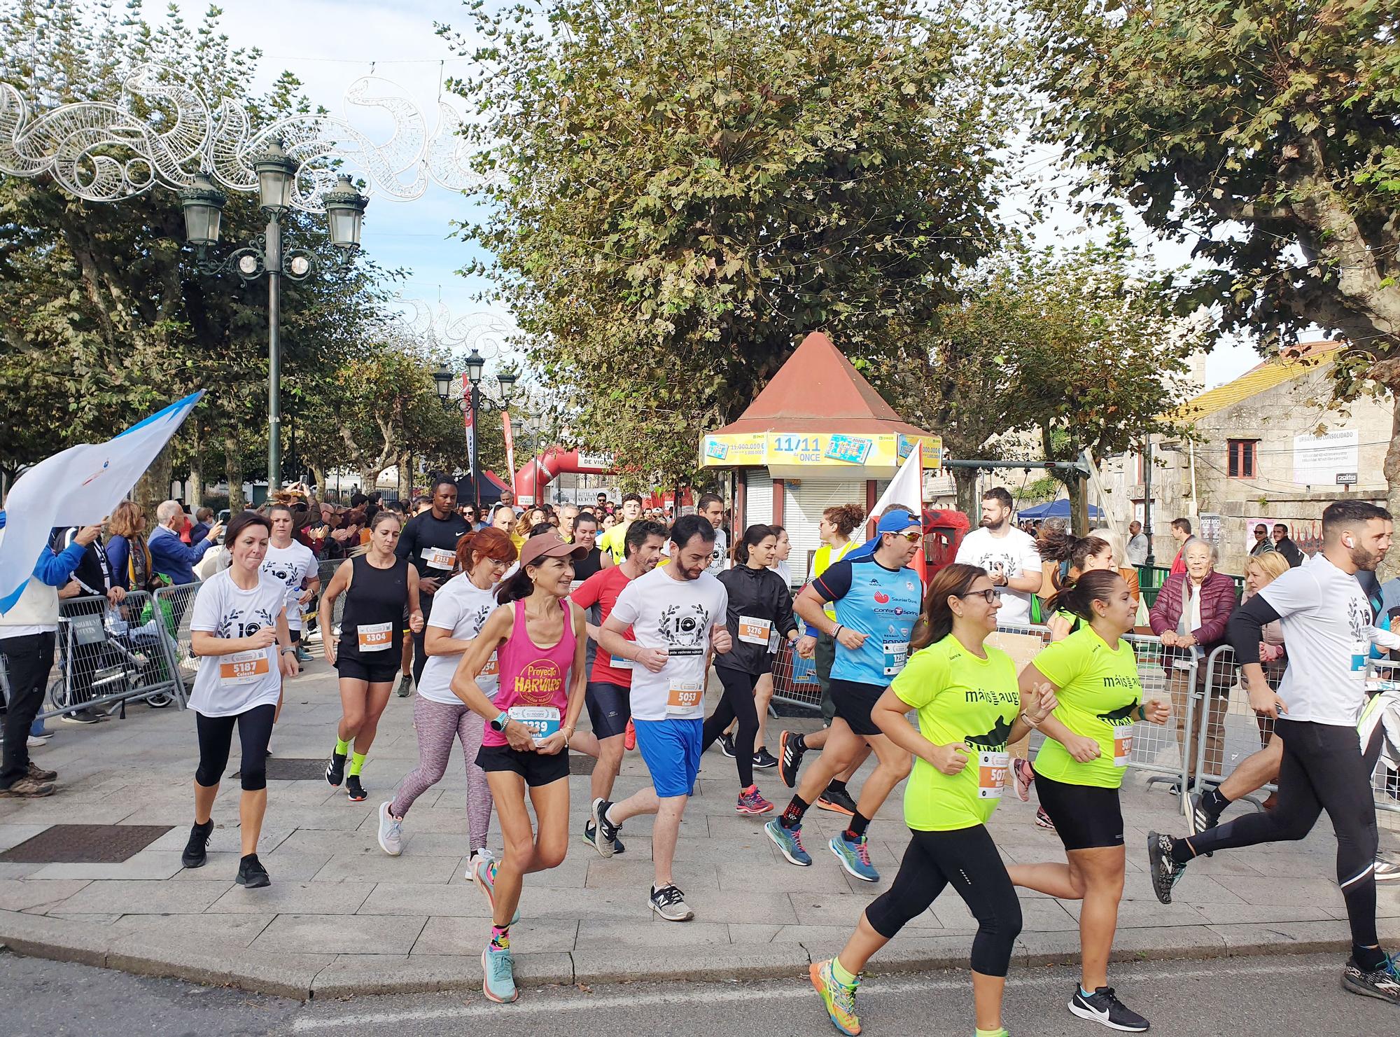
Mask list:
MULTIPOLYGON (((1194 242, 1211 304, 1266 350, 1316 322, 1337 392, 1400 391, 1400 7, 1033 0, 1040 123, 1149 227, 1194 242)), ((1385 462, 1400 509, 1400 409, 1385 462)), ((1400 549, 1400 548, 1397 548, 1400 549)), ((1392 559, 1396 556, 1393 555, 1392 559)))

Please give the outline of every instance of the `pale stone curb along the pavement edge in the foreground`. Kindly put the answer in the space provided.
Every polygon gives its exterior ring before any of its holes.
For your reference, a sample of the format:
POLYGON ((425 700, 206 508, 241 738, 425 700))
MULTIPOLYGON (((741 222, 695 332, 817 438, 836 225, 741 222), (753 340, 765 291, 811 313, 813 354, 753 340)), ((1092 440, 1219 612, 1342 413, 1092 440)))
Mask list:
MULTIPOLYGON (((1400 942, 1400 919, 1379 919, 1380 939, 1400 942)), ((869 973, 921 973, 966 968, 972 933, 920 936, 892 942, 871 963, 869 973)), ((382 967, 337 960, 333 954, 274 954, 242 947, 210 953, 207 943, 153 940, 141 935, 108 936, 85 922, 17 911, 0 911, 0 946, 18 954, 116 968, 134 975, 185 980, 207 987, 234 987, 251 994, 311 1001, 378 994, 475 991, 482 985, 480 961, 472 956, 426 956, 421 961, 382 967)), ((792 980, 806 966, 836 954, 836 943, 727 945, 662 952, 619 945, 601 952, 542 952, 515 957, 519 987, 606 982, 701 982, 792 980)), ((1308 954, 1351 950, 1345 922, 1278 922, 1180 925, 1120 929, 1113 961, 1226 959, 1261 954, 1308 954)), ((1064 966, 1079 961, 1079 936, 1067 932, 1023 932, 1012 963, 1018 967, 1064 966)))

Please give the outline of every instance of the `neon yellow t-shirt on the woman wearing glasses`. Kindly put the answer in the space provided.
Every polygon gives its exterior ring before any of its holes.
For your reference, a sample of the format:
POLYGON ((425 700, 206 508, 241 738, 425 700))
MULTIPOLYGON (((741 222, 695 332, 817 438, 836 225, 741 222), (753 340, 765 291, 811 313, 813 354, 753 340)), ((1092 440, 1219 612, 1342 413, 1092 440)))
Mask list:
POLYGON ((1016 664, 987 646, 979 659, 951 633, 909 657, 889 685, 918 710, 918 733, 935 746, 965 741, 967 765, 946 775, 914 757, 904 789, 904 823, 924 832, 986 824, 1007 778, 1007 736, 1021 712, 1016 664))

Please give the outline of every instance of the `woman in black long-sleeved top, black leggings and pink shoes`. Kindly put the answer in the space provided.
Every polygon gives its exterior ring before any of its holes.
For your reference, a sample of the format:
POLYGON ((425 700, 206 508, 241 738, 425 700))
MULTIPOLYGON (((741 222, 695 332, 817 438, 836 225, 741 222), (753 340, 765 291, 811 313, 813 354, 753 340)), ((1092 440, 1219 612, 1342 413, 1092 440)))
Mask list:
POLYGON ((759 732, 753 688, 759 675, 773 668, 770 646, 774 638, 797 640, 791 594, 783 577, 769 568, 776 547, 771 527, 750 526, 734 547, 736 566, 718 576, 728 593, 725 625, 734 647, 715 663, 724 696, 704 722, 700 751, 704 753, 731 720, 739 724, 734 740, 734 764, 739 771, 739 800, 734 809, 739 814, 773 810, 753 783, 753 741, 759 732))

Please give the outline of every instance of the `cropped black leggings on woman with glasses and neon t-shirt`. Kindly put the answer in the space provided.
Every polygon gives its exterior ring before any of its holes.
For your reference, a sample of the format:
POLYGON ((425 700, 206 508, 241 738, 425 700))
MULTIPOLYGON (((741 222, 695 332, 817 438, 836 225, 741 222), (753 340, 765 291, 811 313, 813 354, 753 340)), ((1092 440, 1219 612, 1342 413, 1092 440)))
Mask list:
POLYGON ((951 832, 914 831, 895 884, 871 901, 865 921, 885 939, 893 939, 949 883, 977 918, 972 971, 1005 975, 1021 935, 1021 901, 986 825, 951 832))

